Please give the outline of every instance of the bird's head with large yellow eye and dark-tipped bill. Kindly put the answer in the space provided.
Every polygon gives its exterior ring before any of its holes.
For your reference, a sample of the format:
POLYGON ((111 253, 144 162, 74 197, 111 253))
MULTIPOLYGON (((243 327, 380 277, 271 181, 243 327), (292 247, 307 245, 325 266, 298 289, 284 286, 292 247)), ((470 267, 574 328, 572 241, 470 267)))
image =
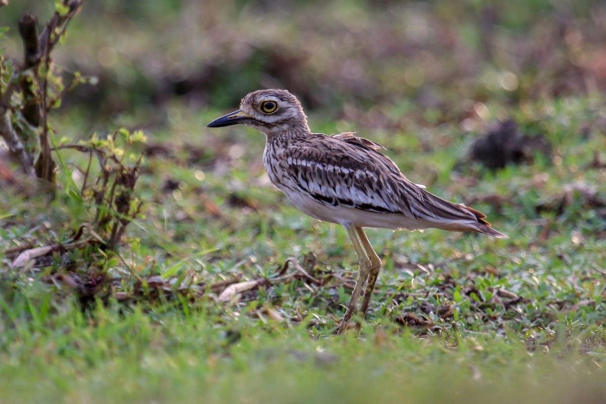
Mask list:
POLYGON ((291 130, 309 131, 301 102, 286 90, 248 93, 242 98, 239 110, 225 114, 206 126, 220 128, 235 124, 257 128, 267 136, 291 130))

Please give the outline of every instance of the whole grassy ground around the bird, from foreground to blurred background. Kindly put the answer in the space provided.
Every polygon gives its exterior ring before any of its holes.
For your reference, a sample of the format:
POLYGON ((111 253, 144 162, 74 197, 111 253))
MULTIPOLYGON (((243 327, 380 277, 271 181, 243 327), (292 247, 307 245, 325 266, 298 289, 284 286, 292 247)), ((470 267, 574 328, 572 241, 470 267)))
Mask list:
POLYGON ((0 184, 1 403, 604 401, 606 108, 591 73, 604 7, 387 3, 85 3, 59 56, 100 85, 68 94, 53 128, 75 139, 143 128, 135 151, 156 150, 136 188, 148 205, 119 257, 59 250, 13 268, 11 248, 68 245, 93 221, 63 188, 81 184, 70 169, 85 160, 62 151, 54 195, 22 177, 0 184), (115 59, 99 59, 103 47, 115 59), (219 68, 196 82, 206 65, 219 68), (507 72, 518 88, 502 85, 507 72), (198 90, 175 96, 173 76, 198 90), (262 134, 205 128, 269 76, 298 90, 312 130, 358 130, 510 238, 369 229, 376 294, 360 331, 335 336, 358 268, 347 232, 268 184, 262 134), (551 156, 494 173, 469 163, 508 118, 545 136, 551 156), (281 273, 289 259, 319 282, 293 263, 281 273), (235 278, 265 282, 219 302, 217 285, 235 278))

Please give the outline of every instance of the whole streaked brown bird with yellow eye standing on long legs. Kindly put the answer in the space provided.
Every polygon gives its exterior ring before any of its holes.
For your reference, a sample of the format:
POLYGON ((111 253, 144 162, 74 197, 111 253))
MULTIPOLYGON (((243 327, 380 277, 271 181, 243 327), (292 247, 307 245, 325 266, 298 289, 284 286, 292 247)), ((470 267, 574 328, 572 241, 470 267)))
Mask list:
POLYGON ((485 215, 429 193, 411 182, 377 142, 355 132, 313 133, 301 102, 287 90, 248 93, 239 109, 210 122, 219 128, 244 124, 265 135, 263 162, 271 183, 299 210, 342 225, 358 255, 358 277, 336 333, 347 328, 362 290, 365 316, 381 259, 364 228, 471 231, 506 238, 485 215))

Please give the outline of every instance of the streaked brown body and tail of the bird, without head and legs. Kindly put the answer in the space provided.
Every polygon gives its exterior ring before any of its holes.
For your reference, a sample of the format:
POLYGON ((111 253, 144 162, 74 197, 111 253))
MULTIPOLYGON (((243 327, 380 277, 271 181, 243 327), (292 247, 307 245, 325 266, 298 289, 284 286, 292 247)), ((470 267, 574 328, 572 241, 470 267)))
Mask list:
POLYGON ((381 145, 353 132, 267 139, 272 182, 297 207, 321 220, 361 227, 428 227, 494 237, 479 211, 441 199, 408 180, 381 145))

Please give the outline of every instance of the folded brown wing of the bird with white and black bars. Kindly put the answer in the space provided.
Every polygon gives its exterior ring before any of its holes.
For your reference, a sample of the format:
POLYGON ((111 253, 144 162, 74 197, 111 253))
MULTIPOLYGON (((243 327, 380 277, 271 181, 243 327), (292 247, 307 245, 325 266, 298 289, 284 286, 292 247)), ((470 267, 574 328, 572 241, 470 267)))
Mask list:
POLYGON ((482 221, 481 213, 410 182, 389 157, 377 151, 379 147, 353 133, 314 134, 287 148, 285 171, 300 190, 323 204, 404 214, 436 223, 482 221))

